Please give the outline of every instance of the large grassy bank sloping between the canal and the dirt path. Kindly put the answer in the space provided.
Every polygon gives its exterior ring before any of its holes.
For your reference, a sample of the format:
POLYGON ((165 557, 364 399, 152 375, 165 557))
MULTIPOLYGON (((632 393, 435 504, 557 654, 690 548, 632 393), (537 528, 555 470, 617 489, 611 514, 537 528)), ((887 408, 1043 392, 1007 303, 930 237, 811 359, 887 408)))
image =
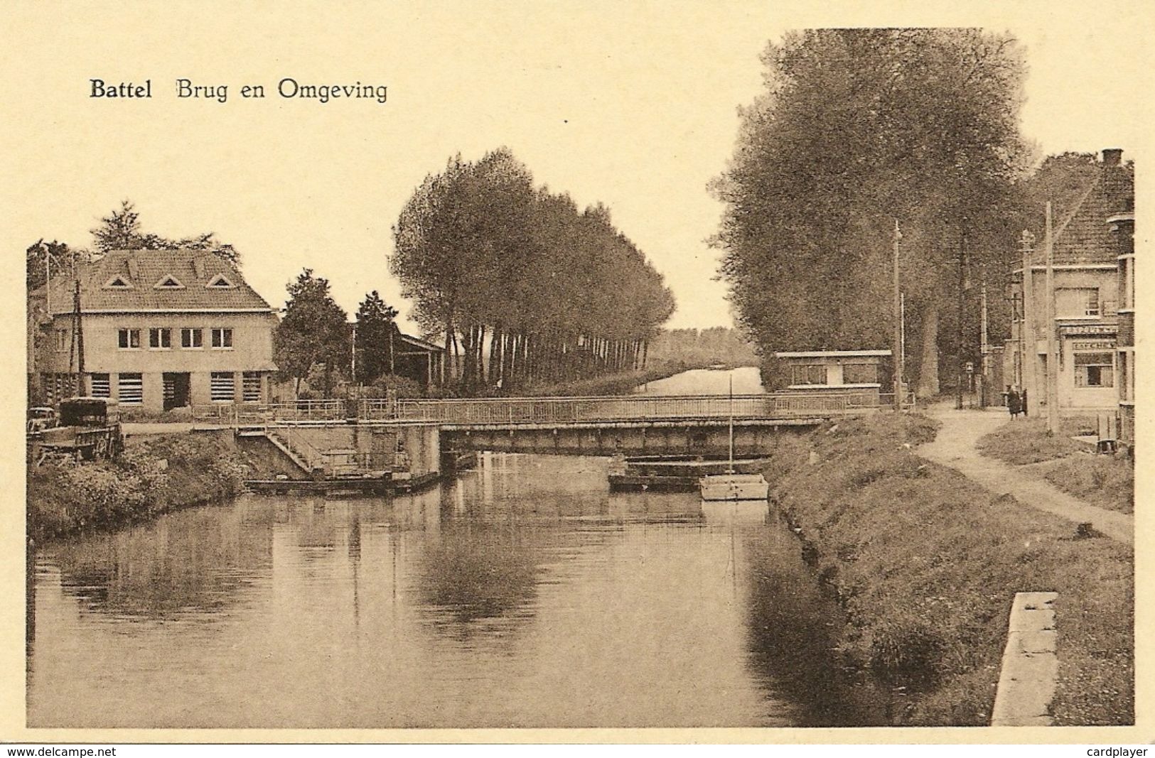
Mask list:
POLYGON ((783 441, 767 471, 847 609, 842 653, 906 688, 896 722, 985 725, 1014 593, 1057 591, 1056 722, 1133 722, 1132 550, 918 458, 934 434, 918 415, 847 420, 783 441))

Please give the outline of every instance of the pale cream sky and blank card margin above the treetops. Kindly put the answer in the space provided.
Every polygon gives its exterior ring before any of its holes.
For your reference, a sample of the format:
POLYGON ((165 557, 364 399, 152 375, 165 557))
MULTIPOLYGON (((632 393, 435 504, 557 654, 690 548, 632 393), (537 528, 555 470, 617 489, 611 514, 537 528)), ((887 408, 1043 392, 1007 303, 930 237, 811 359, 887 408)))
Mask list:
POLYGON ((375 288, 407 314, 387 268, 402 204, 450 155, 504 144, 538 183, 609 205, 673 288, 668 325, 729 325, 706 185, 760 89, 759 53, 806 27, 1011 30, 1030 62, 1027 136, 1048 153, 1120 147, 1142 165, 1145 2, 808 5, 6 3, 20 30, 0 52, 6 247, 20 260, 42 237, 87 246, 131 198, 146 231, 231 242, 274 306, 311 267, 350 313, 375 288), (389 98, 285 100, 284 76, 386 84, 389 98), (94 77, 151 80, 152 98, 91 99, 94 77), (178 100, 178 77, 228 84, 229 102, 178 100), (241 99, 246 83, 266 99, 241 99))

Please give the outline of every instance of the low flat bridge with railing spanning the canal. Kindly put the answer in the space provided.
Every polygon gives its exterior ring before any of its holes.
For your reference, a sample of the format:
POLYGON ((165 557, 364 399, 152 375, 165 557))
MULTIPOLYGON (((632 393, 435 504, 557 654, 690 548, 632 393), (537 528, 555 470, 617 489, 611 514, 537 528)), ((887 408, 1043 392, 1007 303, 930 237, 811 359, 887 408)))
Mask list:
POLYGON ((389 398, 241 406, 222 421, 326 470, 362 470, 368 464, 358 464, 356 451, 381 449, 387 443, 368 440, 389 433, 400 448, 438 452, 724 456, 732 419, 735 453, 747 456, 770 451, 782 433, 882 407, 878 395, 863 392, 389 398))

